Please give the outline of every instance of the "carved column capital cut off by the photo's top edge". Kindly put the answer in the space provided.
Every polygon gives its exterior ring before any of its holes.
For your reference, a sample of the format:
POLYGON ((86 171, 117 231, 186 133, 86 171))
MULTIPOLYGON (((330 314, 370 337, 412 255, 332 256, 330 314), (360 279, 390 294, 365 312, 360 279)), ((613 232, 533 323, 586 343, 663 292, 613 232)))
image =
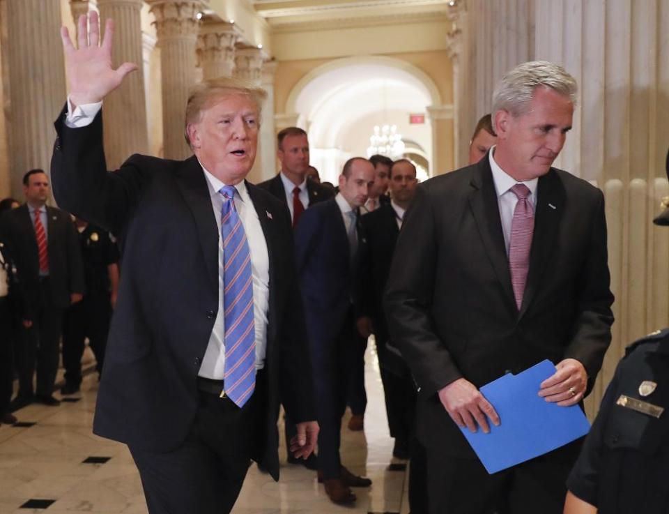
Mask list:
POLYGON ((158 40, 168 38, 197 38, 200 20, 197 15, 205 8, 201 0, 146 0, 155 16, 158 40))

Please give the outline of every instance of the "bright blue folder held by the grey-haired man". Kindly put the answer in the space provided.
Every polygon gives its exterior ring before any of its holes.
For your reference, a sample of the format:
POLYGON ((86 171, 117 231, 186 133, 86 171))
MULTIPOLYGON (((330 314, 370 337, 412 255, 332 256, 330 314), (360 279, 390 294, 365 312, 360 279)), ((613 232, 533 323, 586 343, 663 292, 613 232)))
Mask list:
POLYGON ((500 416, 490 421, 490 433, 461 428, 490 474, 544 455, 587 434, 590 430, 578 405, 559 407, 539 397, 541 382, 555 373, 551 361, 541 361, 518 375, 504 375, 480 391, 500 416))

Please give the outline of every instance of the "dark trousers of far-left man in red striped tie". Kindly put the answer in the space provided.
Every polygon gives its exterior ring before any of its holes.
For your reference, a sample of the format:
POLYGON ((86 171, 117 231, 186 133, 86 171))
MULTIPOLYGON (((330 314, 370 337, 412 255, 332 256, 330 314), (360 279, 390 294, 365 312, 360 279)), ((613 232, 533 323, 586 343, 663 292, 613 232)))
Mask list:
POLYGON ((33 395, 33 375, 36 370, 36 393, 49 396, 54 392, 58 372, 63 309, 54 305, 48 278, 40 280, 40 301, 31 321, 33 324, 30 328, 20 327, 22 337, 16 349, 19 396, 33 395))

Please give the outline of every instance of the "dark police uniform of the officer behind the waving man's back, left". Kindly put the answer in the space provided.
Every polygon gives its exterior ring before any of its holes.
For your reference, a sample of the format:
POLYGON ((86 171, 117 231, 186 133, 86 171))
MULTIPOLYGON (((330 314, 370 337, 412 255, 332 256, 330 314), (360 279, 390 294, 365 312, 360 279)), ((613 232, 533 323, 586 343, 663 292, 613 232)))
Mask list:
POLYGON ((86 225, 79 232, 84 261, 86 294, 81 302, 71 305, 63 321, 63 367, 66 384, 61 393, 79 391, 82 382, 84 340, 95 354, 96 368, 102 373, 102 363, 112 316, 110 264, 118 263, 118 248, 109 232, 95 225, 86 225))

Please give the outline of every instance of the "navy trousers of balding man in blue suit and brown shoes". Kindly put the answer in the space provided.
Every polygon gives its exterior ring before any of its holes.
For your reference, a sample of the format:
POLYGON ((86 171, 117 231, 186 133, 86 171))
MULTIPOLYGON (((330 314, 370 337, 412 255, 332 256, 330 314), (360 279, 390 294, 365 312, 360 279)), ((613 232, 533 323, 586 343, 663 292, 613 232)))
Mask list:
POLYGON ((341 418, 346 411, 346 384, 351 363, 353 319, 333 340, 312 341, 311 356, 318 426, 318 467, 323 478, 341 476, 341 418))

